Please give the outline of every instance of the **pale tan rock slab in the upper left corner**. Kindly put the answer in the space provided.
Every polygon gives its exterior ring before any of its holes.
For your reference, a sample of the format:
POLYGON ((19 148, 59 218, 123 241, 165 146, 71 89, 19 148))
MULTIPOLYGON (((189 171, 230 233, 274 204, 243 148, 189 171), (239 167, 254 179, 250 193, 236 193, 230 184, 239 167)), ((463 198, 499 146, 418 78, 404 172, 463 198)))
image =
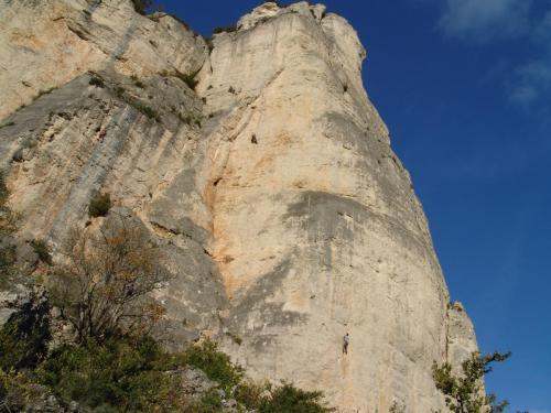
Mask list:
POLYGON ((207 53, 203 39, 174 18, 142 17, 128 0, 2 3, 0 119, 87 70, 187 74, 207 53))

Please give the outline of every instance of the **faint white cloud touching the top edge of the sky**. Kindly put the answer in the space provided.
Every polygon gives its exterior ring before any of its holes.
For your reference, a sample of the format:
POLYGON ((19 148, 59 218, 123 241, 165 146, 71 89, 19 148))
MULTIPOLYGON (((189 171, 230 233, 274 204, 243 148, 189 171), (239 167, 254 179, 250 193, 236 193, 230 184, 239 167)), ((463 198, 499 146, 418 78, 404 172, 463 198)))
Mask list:
POLYGON ((439 28, 475 43, 512 39, 530 29, 532 0, 445 0, 439 28))

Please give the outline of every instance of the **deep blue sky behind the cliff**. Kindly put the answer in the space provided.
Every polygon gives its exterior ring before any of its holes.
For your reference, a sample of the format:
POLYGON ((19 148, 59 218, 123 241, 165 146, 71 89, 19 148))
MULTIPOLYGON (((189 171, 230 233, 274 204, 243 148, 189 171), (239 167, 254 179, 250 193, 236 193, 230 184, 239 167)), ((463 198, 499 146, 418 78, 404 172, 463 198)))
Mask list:
MULTIPOLYGON (((260 1, 164 0, 196 31, 260 1)), ((326 0, 368 51, 364 81, 411 172, 487 387, 551 413, 551 0, 326 0)))

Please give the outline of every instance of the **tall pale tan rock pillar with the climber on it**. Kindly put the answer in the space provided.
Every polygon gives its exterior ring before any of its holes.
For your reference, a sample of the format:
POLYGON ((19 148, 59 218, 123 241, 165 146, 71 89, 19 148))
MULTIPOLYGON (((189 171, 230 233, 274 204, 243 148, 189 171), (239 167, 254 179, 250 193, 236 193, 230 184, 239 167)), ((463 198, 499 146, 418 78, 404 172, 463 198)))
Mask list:
POLYGON ((364 90, 355 31, 302 7, 217 39, 201 74, 207 110, 239 113, 205 166, 226 323, 244 339, 225 348, 344 411, 444 409, 431 367, 449 294, 424 214, 364 90))

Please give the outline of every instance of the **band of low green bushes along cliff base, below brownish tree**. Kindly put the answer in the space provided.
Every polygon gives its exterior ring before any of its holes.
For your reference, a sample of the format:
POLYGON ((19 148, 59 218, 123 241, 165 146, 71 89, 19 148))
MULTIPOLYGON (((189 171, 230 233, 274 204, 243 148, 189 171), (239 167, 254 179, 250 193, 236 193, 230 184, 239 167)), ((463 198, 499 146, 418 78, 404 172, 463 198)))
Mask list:
MULTIPOLYGON (((10 326, 0 335, 3 340, 0 344, 4 345, 0 347, 0 355, 13 359, 15 355, 26 354, 25 346, 17 343, 24 341, 21 335, 14 334, 18 328, 12 330, 10 326)), ((44 350, 40 354, 45 355, 44 350)), ((17 360, 0 367, 6 371, 14 366, 21 367, 17 360)), ((222 398, 216 388, 198 399, 182 392, 184 376, 180 371, 185 367, 201 369, 217 381, 226 394, 240 403, 239 409, 259 413, 334 411, 325 405, 321 392, 303 391, 289 383, 272 388, 246 382, 242 369, 233 365, 210 340, 183 352, 169 354, 149 336, 117 336, 102 343, 89 339, 79 346, 63 345, 34 370, 32 381, 0 370, 0 398, 10 394, 12 411, 19 411, 22 401, 29 399, 28 390, 43 385, 46 388, 42 388, 42 392, 51 391, 64 404, 76 401, 98 412, 220 412, 222 398), (264 395, 266 390, 271 395, 264 395)))

